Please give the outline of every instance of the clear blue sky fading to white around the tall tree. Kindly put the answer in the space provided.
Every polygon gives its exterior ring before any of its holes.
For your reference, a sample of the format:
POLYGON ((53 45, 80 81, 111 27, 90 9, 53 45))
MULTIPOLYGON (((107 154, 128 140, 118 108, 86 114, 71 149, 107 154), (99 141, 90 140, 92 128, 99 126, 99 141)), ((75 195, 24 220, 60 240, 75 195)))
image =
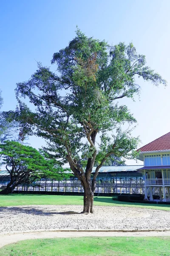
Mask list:
MULTIPOLYGON (((133 42, 147 64, 167 80, 164 89, 140 81, 140 101, 127 100, 138 120, 141 146, 170 131, 170 0, 8 0, 0 4, 0 89, 3 111, 17 104, 14 89, 68 45, 76 25, 109 44, 133 42), (36 60, 36 61, 35 61, 36 60)), ((122 102, 123 103, 123 102, 122 102)), ((39 138, 29 143, 40 148, 39 138)), ((133 164, 133 162, 127 162, 133 164)))

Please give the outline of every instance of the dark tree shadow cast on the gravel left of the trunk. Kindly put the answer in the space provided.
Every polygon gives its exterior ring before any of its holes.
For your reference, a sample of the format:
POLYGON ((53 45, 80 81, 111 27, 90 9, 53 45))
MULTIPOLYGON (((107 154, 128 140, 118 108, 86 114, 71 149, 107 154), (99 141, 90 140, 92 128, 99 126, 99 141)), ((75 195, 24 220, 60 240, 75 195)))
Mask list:
MULTIPOLYGON (((56 206, 57 208, 57 206, 56 206)), ((2 213, 13 213, 13 214, 18 214, 18 213, 26 213, 26 214, 31 214, 31 215, 57 215, 57 214, 62 214, 62 215, 74 215, 74 214, 82 214, 82 212, 74 212, 74 211, 64 211, 64 212, 52 212, 48 211, 47 209, 36 209, 32 207, 1 207, 0 209, 0 215, 2 213)), ((1 216, 0 216, 1 218, 1 216)))

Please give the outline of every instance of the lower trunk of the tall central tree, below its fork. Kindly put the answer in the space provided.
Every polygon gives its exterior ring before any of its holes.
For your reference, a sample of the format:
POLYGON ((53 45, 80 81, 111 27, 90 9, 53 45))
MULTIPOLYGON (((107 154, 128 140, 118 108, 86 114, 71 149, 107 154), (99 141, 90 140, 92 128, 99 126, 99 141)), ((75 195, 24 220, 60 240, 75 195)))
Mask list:
POLYGON ((83 213, 94 213, 94 193, 90 188, 86 188, 84 191, 83 213))

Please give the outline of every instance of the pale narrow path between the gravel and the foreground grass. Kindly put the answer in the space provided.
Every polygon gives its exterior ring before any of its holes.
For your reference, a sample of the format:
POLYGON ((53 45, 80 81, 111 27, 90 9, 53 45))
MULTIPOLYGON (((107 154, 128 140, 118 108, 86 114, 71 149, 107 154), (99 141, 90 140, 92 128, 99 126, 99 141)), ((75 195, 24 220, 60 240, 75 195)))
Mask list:
POLYGON ((83 237, 83 236, 170 236, 170 231, 143 231, 143 232, 95 232, 95 231, 49 231, 0 235, 0 247, 27 239, 83 237))

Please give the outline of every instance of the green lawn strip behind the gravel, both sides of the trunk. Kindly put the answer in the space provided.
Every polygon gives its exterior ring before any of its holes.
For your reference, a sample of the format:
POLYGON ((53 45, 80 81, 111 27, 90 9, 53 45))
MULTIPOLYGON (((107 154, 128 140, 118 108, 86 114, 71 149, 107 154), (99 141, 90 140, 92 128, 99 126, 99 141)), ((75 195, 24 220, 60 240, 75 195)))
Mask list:
MULTIPOLYGON (((79 195, 0 195, 0 207, 38 204, 83 205, 83 197, 79 195)), ((170 205, 127 203, 113 201, 111 197, 104 196, 94 197, 94 205, 140 207, 170 211, 170 205)))

